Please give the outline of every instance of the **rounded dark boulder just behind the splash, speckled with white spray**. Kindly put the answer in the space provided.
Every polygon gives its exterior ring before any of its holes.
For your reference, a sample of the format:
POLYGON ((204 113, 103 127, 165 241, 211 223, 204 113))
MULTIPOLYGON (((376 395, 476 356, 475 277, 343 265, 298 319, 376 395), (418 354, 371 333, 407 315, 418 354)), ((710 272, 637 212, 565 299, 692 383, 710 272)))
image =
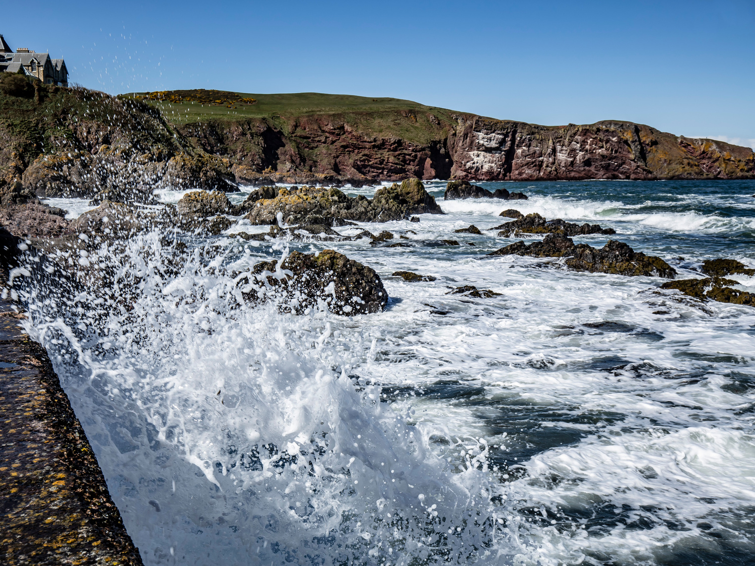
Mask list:
POLYGON ((383 281, 374 269, 337 251, 318 255, 293 251, 282 264, 254 266, 259 284, 245 289, 250 300, 276 300, 284 312, 303 314, 320 306, 338 315, 381 312, 388 303, 383 281))

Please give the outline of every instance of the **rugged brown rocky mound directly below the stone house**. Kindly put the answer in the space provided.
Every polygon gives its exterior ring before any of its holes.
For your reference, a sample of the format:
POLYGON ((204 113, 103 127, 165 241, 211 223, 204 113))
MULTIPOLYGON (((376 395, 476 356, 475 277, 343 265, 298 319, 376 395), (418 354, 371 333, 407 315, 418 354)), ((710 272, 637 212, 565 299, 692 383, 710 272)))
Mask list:
POLYGON ((236 190, 231 162, 187 143, 153 106, 83 88, 0 94, 0 185, 48 197, 153 201, 159 188, 236 190))

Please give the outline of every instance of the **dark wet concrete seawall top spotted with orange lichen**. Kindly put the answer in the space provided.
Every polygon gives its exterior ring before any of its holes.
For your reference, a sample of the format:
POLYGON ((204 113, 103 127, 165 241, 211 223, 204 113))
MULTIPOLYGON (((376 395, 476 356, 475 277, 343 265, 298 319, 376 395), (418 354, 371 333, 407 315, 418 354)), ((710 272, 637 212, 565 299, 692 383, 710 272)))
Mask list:
POLYGON ((47 352, 0 300, 0 563, 142 564, 47 352))

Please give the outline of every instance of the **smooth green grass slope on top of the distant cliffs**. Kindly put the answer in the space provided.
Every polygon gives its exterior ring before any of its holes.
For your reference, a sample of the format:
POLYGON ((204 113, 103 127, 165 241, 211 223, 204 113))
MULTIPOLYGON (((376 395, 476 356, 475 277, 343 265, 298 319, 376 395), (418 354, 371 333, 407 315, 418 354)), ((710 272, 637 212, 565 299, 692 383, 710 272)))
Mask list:
MULTIPOLYGON (((134 94, 122 94, 131 97, 134 94)), ((332 114, 339 112, 375 112, 380 110, 430 110, 412 100, 400 98, 357 97, 350 94, 322 94, 319 92, 298 92, 291 94, 253 94, 236 93, 239 97, 257 99, 251 105, 236 104, 234 108, 226 106, 202 106, 199 103, 169 103, 159 100, 147 100, 158 107, 165 118, 176 124, 196 122, 202 118, 238 119, 243 117, 277 117, 280 115, 297 116, 307 114, 332 114)))

